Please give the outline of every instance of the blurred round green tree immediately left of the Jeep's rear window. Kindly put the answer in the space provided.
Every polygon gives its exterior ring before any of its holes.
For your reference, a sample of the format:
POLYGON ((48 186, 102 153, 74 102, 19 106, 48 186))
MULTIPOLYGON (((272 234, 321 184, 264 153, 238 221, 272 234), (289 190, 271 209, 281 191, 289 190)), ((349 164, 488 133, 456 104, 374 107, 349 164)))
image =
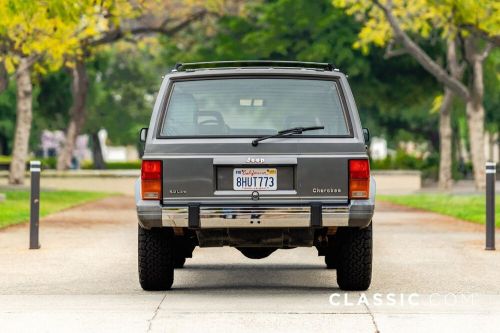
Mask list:
POLYGON ((105 128, 112 144, 135 145, 139 130, 149 124, 160 73, 166 66, 157 62, 164 59, 152 54, 150 47, 136 47, 126 53, 124 47, 114 45, 87 64, 92 84, 84 132, 105 128))

